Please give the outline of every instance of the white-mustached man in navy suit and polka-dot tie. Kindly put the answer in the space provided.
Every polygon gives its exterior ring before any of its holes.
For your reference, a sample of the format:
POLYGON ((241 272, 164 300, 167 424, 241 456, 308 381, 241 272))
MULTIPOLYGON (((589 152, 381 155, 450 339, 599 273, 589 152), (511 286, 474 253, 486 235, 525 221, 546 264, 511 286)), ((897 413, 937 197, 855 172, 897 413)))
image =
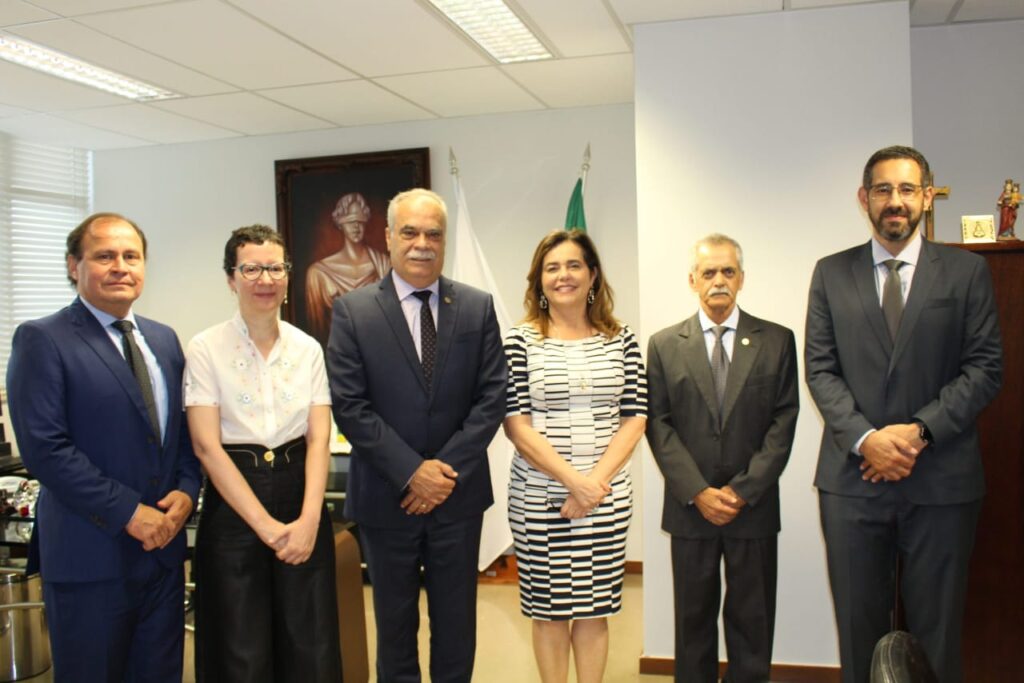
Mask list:
POLYGON ((401 193, 387 222, 391 272, 335 299, 331 324, 334 417, 353 454, 345 514, 374 588, 378 680, 420 680, 422 581, 430 680, 468 682, 480 523, 494 502, 487 444, 508 370, 490 295, 441 276, 441 198, 401 193))

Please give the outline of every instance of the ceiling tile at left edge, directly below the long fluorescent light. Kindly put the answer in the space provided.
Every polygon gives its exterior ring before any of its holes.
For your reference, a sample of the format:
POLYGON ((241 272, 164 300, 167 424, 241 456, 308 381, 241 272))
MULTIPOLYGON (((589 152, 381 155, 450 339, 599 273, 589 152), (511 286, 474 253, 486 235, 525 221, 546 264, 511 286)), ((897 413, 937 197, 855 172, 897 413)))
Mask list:
POLYGON ((37 112, 82 106, 123 104, 124 97, 112 95, 37 71, 0 61, 0 104, 24 106, 37 112))

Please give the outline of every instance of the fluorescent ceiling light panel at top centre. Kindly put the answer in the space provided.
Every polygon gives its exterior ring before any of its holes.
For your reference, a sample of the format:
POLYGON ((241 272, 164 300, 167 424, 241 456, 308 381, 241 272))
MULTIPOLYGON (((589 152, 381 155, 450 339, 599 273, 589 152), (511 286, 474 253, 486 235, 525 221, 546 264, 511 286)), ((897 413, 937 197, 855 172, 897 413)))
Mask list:
POLYGON ((502 0, 430 0, 503 65, 550 59, 551 52, 502 0))

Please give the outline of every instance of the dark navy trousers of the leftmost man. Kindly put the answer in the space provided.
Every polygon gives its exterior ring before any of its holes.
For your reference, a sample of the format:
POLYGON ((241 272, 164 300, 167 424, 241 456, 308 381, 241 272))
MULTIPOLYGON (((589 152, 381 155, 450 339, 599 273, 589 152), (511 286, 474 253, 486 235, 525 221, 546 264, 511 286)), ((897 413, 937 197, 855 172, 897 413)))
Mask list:
MULTIPOLYGON (((88 558, 82 558, 87 562, 88 558)), ((180 683, 184 571, 143 555, 116 581, 43 584, 61 683, 180 683)))

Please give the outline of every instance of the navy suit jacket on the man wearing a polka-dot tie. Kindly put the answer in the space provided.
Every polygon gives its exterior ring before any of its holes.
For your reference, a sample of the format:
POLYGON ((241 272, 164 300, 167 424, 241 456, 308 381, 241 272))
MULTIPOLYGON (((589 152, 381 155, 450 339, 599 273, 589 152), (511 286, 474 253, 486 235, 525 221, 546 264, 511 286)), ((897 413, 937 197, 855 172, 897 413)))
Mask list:
POLYGON ((401 526, 402 490, 424 459, 459 473, 440 521, 494 503, 487 445, 505 416, 508 369, 490 295, 440 279, 427 386, 391 274, 335 299, 327 365, 338 429, 352 444, 345 515, 401 526))

